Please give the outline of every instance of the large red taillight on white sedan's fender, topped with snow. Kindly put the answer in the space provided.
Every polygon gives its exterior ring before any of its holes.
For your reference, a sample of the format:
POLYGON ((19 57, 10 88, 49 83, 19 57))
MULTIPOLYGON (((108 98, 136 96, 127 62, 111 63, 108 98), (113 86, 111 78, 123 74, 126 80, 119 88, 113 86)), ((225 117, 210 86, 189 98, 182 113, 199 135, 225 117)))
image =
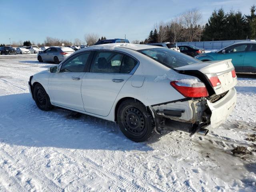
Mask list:
POLYGON ((207 97, 209 96, 208 91, 202 82, 196 82, 193 84, 182 83, 179 81, 170 82, 171 86, 173 86, 180 94, 184 97, 207 97))

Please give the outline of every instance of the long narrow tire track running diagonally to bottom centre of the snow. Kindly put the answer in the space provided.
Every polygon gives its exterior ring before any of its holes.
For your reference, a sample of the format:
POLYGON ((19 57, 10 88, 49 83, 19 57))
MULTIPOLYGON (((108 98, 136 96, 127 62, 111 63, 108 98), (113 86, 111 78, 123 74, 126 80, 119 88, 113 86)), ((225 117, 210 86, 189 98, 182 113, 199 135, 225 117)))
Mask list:
MULTIPOLYGON (((58 148, 56 150, 61 151, 64 155, 66 155, 70 158, 73 158, 80 164, 86 164, 90 168, 96 170, 102 176, 110 178, 114 182, 120 182, 127 191, 132 191, 132 192, 147 192, 148 191, 146 188, 143 188, 142 186, 140 186, 134 182, 130 182, 128 179, 126 179, 114 172, 105 170, 102 166, 98 165, 96 162, 90 160, 89 158, 82 157, 79 155, 74 155, 71 152, 64 150, 64 149, 60 149, 60 148, 58 148)), ((50 152, 50 150, 49 150, 49 152, 50 152)), ((121 188, 121 187, 118 187, 118 188, 121 188)))

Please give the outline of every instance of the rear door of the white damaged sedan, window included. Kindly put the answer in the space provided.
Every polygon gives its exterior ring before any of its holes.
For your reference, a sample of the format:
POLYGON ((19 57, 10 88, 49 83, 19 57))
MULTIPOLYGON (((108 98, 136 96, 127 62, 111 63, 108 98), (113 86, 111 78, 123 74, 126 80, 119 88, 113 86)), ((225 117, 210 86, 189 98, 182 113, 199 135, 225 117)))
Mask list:
POLYGON ((85 111, 108 116, 118 93, 137 64, 137 60, 120 52, 95 51, 90 70, 82 81, 85 111))

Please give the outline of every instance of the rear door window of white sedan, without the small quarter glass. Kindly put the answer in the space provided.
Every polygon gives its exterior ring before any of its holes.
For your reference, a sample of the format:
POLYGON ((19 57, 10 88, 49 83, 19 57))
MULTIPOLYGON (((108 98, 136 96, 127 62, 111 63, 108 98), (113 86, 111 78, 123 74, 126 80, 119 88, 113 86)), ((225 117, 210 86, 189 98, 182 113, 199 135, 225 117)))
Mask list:
POLYGON ((116 52, 96 52, 91 73, 119 73, 124 55, 116 52))

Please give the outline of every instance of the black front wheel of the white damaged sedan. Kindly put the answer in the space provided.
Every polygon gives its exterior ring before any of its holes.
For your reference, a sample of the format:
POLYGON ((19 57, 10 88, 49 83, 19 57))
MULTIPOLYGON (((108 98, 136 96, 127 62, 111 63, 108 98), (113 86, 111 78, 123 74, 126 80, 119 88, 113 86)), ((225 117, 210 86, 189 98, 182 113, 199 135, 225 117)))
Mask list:
POLYGON ((33 90, 36 106, 41 110, 48 111, 53 108, 50 98, 41 84, 36 84, 33 90))

